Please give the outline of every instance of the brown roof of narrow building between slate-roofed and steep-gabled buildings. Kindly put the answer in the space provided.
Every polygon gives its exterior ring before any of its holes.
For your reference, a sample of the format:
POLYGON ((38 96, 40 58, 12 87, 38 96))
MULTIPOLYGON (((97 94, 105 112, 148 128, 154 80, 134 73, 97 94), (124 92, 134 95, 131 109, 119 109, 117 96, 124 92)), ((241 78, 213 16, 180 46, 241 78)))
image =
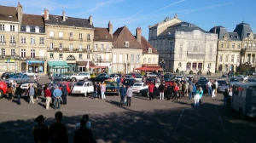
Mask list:
POLYGON ((94 29, 94 41, 112 41, 112 37, 109 34, 108 28, 95 27, 94 29))

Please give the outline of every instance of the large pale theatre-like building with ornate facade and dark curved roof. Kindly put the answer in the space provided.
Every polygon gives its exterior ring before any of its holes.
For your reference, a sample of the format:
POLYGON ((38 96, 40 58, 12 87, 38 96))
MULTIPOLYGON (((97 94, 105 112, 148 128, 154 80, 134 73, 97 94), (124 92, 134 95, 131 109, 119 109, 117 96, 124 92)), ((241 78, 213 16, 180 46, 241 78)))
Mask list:
POLYGON ((148 27, 148 42, 158 49, 166 72, 215 72, 217 34, 182 22, 177 15, 148 27))

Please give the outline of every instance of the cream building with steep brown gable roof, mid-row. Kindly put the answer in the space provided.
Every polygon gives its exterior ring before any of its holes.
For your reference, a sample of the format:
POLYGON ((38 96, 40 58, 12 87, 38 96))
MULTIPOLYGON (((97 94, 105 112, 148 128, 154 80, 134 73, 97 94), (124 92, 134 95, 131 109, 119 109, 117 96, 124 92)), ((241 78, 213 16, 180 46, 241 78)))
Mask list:
POLYGON ((113 32, 112 72, 129 73, 142 66, 143 46, 126 26, 113 32))

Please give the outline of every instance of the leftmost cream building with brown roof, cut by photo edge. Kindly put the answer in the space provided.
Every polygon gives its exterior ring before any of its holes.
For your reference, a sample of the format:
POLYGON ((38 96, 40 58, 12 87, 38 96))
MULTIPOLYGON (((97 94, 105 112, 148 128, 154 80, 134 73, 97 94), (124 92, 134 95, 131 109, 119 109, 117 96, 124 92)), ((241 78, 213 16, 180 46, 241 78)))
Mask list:
POLYGON ((23 8, 0 6, 0 72, 20 72, 19 27, 23 8))

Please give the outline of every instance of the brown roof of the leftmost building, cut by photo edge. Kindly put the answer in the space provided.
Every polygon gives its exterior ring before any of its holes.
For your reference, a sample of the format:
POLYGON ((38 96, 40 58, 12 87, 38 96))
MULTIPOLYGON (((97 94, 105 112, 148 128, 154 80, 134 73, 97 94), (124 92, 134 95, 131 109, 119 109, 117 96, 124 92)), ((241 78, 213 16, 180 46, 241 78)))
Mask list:
POLYGON ((18 22, 16 13, 16 7, 6 7, 0 5, 0 20, 18 22))

